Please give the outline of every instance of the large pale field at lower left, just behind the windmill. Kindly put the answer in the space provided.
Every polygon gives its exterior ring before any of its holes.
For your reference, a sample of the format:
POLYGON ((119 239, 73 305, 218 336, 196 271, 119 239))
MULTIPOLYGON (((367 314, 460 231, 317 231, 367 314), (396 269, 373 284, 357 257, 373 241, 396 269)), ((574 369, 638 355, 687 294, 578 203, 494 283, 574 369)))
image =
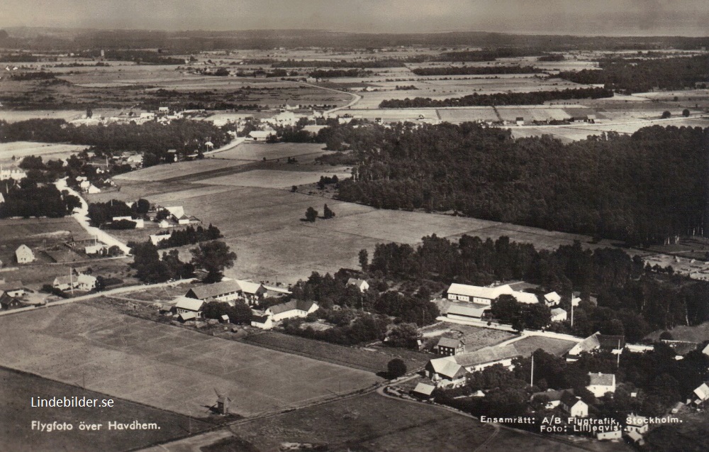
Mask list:
POLYGON ((0 365, 201 416, 215 388, 242 416, 379 381, 372 373, 74 303, 0 319, 0 365), (31 340, 30 340, 31 338, 31 340))

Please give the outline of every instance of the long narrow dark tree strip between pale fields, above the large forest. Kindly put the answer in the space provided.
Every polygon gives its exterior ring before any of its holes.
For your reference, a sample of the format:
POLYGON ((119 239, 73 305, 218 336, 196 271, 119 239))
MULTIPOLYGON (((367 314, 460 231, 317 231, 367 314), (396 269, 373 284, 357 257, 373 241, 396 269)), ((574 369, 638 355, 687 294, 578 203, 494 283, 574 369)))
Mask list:
POLYGON ((601 99, 603 97, 613 97, 613 90, 605 88, 576 88, 558 91, 473 93, 464 97, 440 100, 430 99, 430 97, 415 97, 414 99, 384 100, 381 101, 379 107, 382 109, 411 109, 446 106, 535 105, 562 99, 601 99))

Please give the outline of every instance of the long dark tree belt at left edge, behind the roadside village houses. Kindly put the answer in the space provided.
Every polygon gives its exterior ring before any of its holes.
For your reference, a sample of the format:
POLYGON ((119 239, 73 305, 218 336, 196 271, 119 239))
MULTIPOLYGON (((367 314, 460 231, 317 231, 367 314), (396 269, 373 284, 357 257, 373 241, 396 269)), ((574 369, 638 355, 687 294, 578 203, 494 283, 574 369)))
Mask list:
POLYGON ((178 120, 169 124, 154 121, 143 124, 108 124, 74 126, 63 119, 29 119, 8 123, 0 121, 0 142, 42 141, 44 143, 72 143, 88 145, 104 155, 134 150, 145 154, 143 166, 155 165, 168 158, 167 151, 180 155, 204 150, 206 141, 215 148, 229 143, 224 128, 209 121, 178 120))

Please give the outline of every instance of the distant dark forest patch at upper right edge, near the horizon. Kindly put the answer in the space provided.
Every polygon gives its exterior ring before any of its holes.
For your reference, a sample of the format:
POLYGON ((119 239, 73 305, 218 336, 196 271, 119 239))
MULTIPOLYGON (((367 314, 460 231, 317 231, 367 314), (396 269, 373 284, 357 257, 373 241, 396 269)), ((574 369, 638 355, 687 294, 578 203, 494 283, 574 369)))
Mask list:
POLYGON ((601 70, 566 71, 555 77, 583 84, 603 84, 624 94, 652 89, 694 88, 696 82, 709 86, 709 55, 674 58, 608 58, 601 70))

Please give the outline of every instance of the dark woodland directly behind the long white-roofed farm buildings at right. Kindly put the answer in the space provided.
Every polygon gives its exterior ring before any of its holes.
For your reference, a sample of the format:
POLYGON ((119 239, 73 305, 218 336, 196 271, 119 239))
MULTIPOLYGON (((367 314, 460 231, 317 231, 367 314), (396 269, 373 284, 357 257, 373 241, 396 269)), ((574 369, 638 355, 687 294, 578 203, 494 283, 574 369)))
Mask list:
MULTIPOLYGON (((510 242, 507 237, 493 242, 464 235, 453 242, 434 235, 424 237, 417 248, 397 243, 377 245, 367 272, 386 280, 435 280, 444 285, 525 280, 542 287, 539 295, 552 290, 562 294, 562 307, 567 311, 571 293, 580 292, 582 301, 574 308, 574 326, 565 322, 556 329, 581 337, 601 331, 624 334, 628 341, 637 342, 657 329, 709 321, 707 282, 649 268, 642 259, 616 248, 584 250, 579 242, 549 252, 535 250, 528 243, 510 242)), ((501 314, 514 307, 499 308, 501 314)), ((526 308, 517 308, 534 321, 548 316, 548 312, 526 313, 526 308)), ((539 329, 545 322, 528 321, 526 326, 539 329)))

